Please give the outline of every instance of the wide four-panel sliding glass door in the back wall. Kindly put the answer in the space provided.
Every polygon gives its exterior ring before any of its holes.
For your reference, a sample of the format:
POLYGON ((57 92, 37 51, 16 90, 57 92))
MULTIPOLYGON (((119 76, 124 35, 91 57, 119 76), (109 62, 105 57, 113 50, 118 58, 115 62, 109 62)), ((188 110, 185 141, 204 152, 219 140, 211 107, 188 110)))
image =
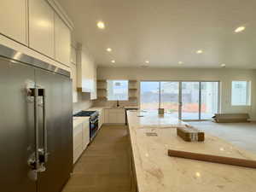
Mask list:
POLYGON ((143 81, 141 108, 164 108, 172 117, 183 120, 211 119, 218 113, 218 86, 218 81, 143 81))

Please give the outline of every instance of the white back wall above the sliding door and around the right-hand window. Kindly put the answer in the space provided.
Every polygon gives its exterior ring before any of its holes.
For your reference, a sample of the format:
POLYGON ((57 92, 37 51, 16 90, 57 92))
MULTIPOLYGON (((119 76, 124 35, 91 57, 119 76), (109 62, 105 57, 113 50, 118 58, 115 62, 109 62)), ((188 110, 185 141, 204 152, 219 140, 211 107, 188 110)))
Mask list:
POLYGON ((256 71, 242 69, 199 69, 199 68, 123 68, 99 67, 98 79, 137 79, 137 80, 216 80, 221 82, 220 110, 222 113, 250 113, 256 119, 256 71), (252 81, 252 105, 231 106, 231 81, 252 81))

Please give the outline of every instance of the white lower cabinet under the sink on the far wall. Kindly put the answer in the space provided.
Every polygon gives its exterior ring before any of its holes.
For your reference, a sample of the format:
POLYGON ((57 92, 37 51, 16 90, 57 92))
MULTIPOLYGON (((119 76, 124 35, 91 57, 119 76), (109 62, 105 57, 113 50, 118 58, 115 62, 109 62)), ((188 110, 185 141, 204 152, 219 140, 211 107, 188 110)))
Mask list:
POLYGON ((105 109, 105 123, 125 124, 125 109, 123 108, 105 109))

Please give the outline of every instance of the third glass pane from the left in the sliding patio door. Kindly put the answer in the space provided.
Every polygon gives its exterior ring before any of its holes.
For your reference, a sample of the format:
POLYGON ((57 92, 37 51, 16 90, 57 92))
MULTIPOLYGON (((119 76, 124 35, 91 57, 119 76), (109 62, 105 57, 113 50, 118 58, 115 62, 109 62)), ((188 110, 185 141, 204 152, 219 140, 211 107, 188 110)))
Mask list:
POLYGON ((182 82, 182 119, 199 119, 199 82, 182 82))

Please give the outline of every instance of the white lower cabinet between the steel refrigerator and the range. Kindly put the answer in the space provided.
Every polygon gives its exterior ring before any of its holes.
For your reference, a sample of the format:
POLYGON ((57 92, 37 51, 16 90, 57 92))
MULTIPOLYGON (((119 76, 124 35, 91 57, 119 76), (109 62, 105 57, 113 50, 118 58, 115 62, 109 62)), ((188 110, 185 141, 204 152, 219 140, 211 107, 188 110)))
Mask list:
POLYGON ((73 127, 73 164, 79 160, 80 155, 90 143, 89 119, 84 119, 79 125, 73 127))

